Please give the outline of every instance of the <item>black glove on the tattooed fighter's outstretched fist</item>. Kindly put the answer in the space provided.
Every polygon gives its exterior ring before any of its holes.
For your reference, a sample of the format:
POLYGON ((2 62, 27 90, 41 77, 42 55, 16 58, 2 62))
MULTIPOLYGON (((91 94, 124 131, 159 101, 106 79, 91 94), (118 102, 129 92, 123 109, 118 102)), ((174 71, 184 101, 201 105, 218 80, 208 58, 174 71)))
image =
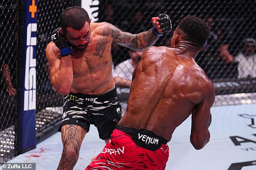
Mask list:
POLYGON ((159 17, 158 22, 160 24, 160 28, 163 29, 163 33, 158 33, 154 27, 152 28, 152 31, 155 36, 163 36, 171 31, 172 22, 167 14, 158 14, 157 16, 159 17))

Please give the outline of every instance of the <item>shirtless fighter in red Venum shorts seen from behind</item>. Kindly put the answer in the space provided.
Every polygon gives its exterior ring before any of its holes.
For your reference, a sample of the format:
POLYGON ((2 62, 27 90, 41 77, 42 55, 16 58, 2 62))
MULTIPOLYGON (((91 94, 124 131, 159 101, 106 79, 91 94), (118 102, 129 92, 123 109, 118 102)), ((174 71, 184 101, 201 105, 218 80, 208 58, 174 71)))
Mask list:
POLYGON ((133 72, 127 110, 111 140, 86 170, 165 170, 173 131, 192 114, 190 142, 210 140, 213 83, 195 62, 209 35, 206 23, 186 16, 171 47, 149 47, 133 72))

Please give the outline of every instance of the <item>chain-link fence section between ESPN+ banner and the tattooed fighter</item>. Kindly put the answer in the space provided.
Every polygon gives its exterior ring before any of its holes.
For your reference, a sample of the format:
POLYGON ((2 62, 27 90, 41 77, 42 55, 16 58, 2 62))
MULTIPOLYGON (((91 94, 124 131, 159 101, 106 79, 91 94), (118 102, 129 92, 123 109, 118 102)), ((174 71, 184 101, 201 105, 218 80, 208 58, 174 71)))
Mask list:
POLYGON ((70 0, 39 0, 37 4, 37 142, 57 132, 62 118, 62 95, 52 87, 45 47, 50 33, 59 27, 61 12, 74 4, 70 0))

